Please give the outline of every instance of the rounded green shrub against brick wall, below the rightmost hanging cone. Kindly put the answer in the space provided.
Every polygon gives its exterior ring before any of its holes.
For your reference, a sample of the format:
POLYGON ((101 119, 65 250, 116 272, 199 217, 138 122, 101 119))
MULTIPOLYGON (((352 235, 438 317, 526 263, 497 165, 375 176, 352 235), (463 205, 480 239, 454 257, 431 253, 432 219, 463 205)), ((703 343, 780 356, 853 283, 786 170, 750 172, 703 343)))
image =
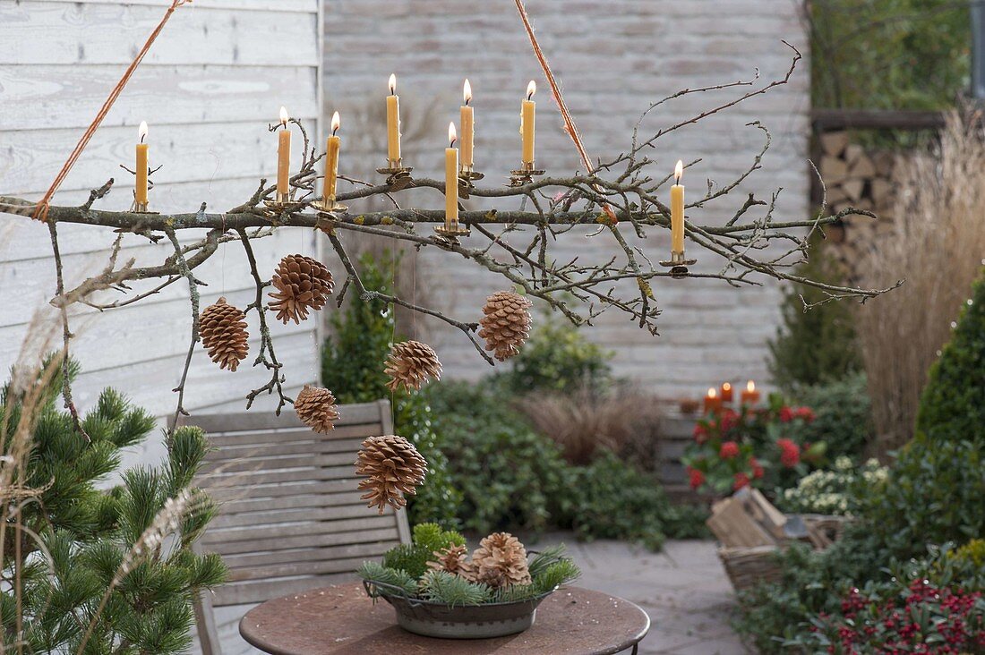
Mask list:
POLYGON ((570 323, 546 318, 498 382, 515 394, 584 388, 603 393, 613 384, 612 357, 612 352, 587 341, 570 323))

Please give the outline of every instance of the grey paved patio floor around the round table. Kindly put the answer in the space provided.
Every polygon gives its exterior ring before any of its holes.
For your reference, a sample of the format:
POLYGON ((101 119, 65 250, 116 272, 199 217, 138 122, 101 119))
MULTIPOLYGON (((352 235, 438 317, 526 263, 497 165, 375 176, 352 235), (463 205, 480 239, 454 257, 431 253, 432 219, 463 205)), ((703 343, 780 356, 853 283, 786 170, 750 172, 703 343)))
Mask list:
MULTIPOLYGON (((578 585, 632 601, 650 615, 641 654, 744 655, 748 651, 729 621, 735 609, 732 586, 710 541, 670 541, 661 553, 619 541, 579 543, 573 535, 542 537, 531 549, 564 542, 581 566, 578 585)), ((236 630, 247 608, 216 611, 224 655, 260 655, 236 630)))

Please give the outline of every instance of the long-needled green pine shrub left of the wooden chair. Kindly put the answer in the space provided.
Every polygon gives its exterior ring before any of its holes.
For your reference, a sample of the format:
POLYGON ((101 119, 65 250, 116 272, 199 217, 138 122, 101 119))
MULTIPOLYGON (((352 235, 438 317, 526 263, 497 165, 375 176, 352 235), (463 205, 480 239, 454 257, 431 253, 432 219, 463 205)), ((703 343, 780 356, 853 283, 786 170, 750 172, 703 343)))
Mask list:
POLYGON ((204 492, 189 489, 207 439, 198 428, 176 430, 165 442, 162 466, 125 471, 121 483, 106 490, 109 477, 119 474, 121 449, 145 440, 154 419, 106 390, 82 419, 87 441, 68 413, 57 409, 60 380, 55 376, 33 407, 24 405, 30 394, 15 397, 9 387, 2 394, 5 453, 15 452, 16 440, 23 438, 14 429, 22 414, 34 419, 19 482, 39 491, 21 505, 21 524, 35 536, 22 540, 20 557, 12 544, 18 534, 14 524, 7 528, 2 575, 11 580, 19 571, 23 606, 18 610, 10 586, 0 590, 5 642, 15 640, 17 622, 23 620, 24 653, 184 652, 194 622, 192 599, 226 576, 218 556, 190 548, 215 514, 204 492), (188 508, 174 517, 177 530, 162 535, 176 539, 148 540, 148 528, 165 502, 182 493, 189 497, 188 508))

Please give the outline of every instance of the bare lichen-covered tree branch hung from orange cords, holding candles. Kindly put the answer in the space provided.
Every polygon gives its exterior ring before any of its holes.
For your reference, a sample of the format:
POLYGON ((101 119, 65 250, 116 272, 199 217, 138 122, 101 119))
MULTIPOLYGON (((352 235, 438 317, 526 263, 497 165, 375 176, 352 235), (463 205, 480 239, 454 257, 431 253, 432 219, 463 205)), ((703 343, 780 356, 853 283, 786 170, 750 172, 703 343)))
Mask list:
MULTIPOLYGON (((517 2, 517 6, 522 11, 522 3, 517 2)), ((528 33, 536 48, 532 29, 528 33)), ((197 285, 201 283, 196 280, 193 271, 216 253, 219 244, 230 240, 239 241, 246 253, 249 275, 256 289, 254 300, 246 308, 247 313, 252 309, 256 310, 260 324, 260 353, 254 365, 263 365, 271 375, 266 384, 249 392, 247 407, 263 393, 276 393, 279 397, 277 411, 280 412, 293 400, 284 393, 283 363, 278 360, 274 350, 268 325, 268 308, 264 305, 264 290, 271 283, 269 275, 258 268, 252 249, 254 240, 282 228, 325 231, 347 274, 340 296, 352 287, 359 296, 358 301, 380 299, 387 304, 400 305, 437 318, 461 331, 490 363, 493 363, 492 358, 483 350, 483 345, 477 338, 478 311, 470 316, 456 318, 396 294, 365 288, 354 259, 347 251, 347 233, 359 232, 373 238, 387 239, 395 244, 406 244, 416 249, 433 248, 450 257, 464 258, 498 276, 502 286, 542 299, 553 310, 577 325, 591 324, 603 312, 614 310, 656 335, 657 318, 660 315, 657 305, 659 290, 654 289, 652 282, 681 276, 680 272, 672 274, 669 269, 654 264, 654 260, 662 259, 666 253, 646 247, 646 239, 654 230, 670 229, 670 210, 660 196, 666 194, 664 187, 671 176, 664 172, 652 174, 654 162, 644 156, 644 151, 655 149, 660 137, 669 132, 693 125, 704 117, 786 84, 800 59, 800 53, 796 49, 794 53, 790 68, 784 76, 776 80, 759 84, 756 73, 755 78, 750 81, 684 90, 652 103, 643 112, 640 122, 633 130, 628 150, 609 162, 598 164, 594 169, 589 165, 582 146, 579 154, 588 168, 584 172, 570 176, 543 177, 519 186, 470 188, 471 196, 485 199, 493 203, 495 208, 461 211, 460 223, 472 229, 472 236, 463 240, 442 236, 431 229, 444 221, 443 211, 415 209, 406 206, 406 203, 398 203, 406 189, 416 188, 433 192, 437 204, 439 194, 444 192, 442 180, 414 179, 406 187, 387 182, 372 184, 351 180, 353 187, 340 193, 339 201, 349 203, 381 197, 389 200, 394 208, 368 213, 318 212, 313 206, 313 202, 318 200, 315 195, 318 178, 315 165, 322 156, 310 146, 306 132, 296 121, 294 122, 301 129, 304 138, 304 157, 300 168, 291 177, 291 202, 275 212, 265 205, 265 201, 273 199, 275 187, 269 186, 266 180, 260 180, 249 198, 225 213, 208 213, 204 206, 193 213, 162 215, 96 209, 95 205, 108 193, 111 184, 94 189, 89 200, 77 207, 45 206, 44 201, 35 204, 20 198, 0 196, 0 213, 31 217, 38 212, 46 212, 52 230, 56 260, 59 262, 55 231, 57 224, 87 225, 114 229, 117 232, 109 265, 98 276, 84 280, 72 291, 66 292, 59 274, 59 287, 53 303, 63 311, 66 340, 70 335, 67 308, 74 302, 84 302, 100 310, 109 309, 157 294, 178 280, 188 280, 193 312, 192 341, 189 357, 185 359, 182 382, 175 389, 179 393, 178 413, 183 411, 180 398, 190 354, 197 343, 197 285), (736 98, 705 109, 670 127, 641 134, 643 119, 652 108, 662 102, 689 94, 733 88, 742 90, 736 98), (624 234, 621 224, 628 226, 631 232, 624 234), (208 230, 204 237, 183 243, 178 240, 178 235, 183 232, 201 229, 208 230), (117 263, 119 239, 125 233, 146 237, 152 246, 166 236, 171 252, 157 265, 138 267, 132 259, 117 263), (628 238, 630 233, 634 240, 628 238), (558 241, 569 238, 586 239, 593 247, 583 249, 570 260, 559 260, 555 255, 556 245, 558 241), (598 258, 598 261, 592 261, 592 256, 598 258), (150 290, 135 293, 131 285, 142 281, 156 282, 150 290), (97 293, 110 289, 127 297, 109 302, 94 297, 97 293)), ((546 59, 542 59, 542 62, 546 66, 546 59)), ((557 87, 557 84, 553 86, 557 87)), ((557 88, 556 96, 559 98, 557 88)), ((565 119, 567 120, 569 118, 565 119)), ((575 138, 577 132, 574 131, 573 123, 571 125, 569 133, 575 138)), ((832 300, 854 298, 860 301, 889 291, 809 280, 793 270, 807 256, 808 237, 813 231, 823 232, 825 226, 837 223, 847 215, 871 217, 873 215, 870 212, 850 209, 829 215, 822 211, 816 217, 781 221, 774 216, 778 191, 771 192, 768 200, 757 198, 755 193, 744 192, 740 202, 718 212, 719 215, 731 217, 727 222, 717 225, 699 222, 709 208, 729 202, 730 195, 738 191, 742 184, 748 183, 760 168, 770 147, 769 132, 758 122, 750 123, 750 127, 762 132, 764 143, 752 157, 748 167, 727 184, 716 186, 709 180, 707 192, 687 207, 689 217, 685 223, 685 233, 691 248, 689 255, 696 254, 702 266, 699 270, 690 270, 683 280, 675 280, 673 284, 687 284, 688 280, 708 280, 732 287, 747 287, 761 285, 763 279, 773 279, 815 287, 832 300)), ((688 167, 693 164, 696 162, 688 167)), ((60 264, 58 270, 60 272, 60 264)), ((495 290, 491 288, 490 291, 495 290)), ((67 398, 71 398, 70 394, 67 398)))

